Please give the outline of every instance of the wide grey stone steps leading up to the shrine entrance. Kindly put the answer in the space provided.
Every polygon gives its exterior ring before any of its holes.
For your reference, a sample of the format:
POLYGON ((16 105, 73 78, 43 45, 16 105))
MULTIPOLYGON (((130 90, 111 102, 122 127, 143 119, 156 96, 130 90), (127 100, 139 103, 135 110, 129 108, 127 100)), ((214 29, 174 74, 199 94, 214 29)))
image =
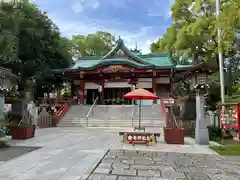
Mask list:
MULTIPOLYGON (((91 106, 74 105, 60 121, 60 127, 133 127, 139 125, 137 105, 96 105, 88 114, 91 106)), ((161 106, 143 105, 141 126, 164 127, 165 120, 161 106)))

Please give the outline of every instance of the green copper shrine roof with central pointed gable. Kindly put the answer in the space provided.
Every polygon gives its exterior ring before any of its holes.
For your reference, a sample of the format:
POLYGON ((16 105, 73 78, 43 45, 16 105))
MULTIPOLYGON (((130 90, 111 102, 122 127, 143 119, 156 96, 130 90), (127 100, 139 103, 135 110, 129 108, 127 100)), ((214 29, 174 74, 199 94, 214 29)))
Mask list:
POLYGON ((177 65, 172 63, 171 58, 167 54, 150 53, 146 55, 131 52, 123 43, 122 39, 118 39, 116 45, 105 56, 85 56, 75 60, 74 65, 67 69, 54 70, 55 72, 94 70, 105 65, 122 65, 126 64, 135 68, 151 68, 151 69, 184 69, 192 65, 177 65))

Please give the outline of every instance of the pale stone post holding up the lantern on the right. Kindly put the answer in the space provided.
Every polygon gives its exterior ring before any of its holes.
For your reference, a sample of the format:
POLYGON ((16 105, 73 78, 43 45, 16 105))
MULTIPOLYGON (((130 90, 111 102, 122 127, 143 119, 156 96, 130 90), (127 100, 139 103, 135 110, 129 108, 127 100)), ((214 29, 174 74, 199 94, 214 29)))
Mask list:
POLYGON ((195 141, 199 145, 208 145, 209 134, 205 118, 205 97, 204 91, 199 89, 196 89, 196 117, 195 141))

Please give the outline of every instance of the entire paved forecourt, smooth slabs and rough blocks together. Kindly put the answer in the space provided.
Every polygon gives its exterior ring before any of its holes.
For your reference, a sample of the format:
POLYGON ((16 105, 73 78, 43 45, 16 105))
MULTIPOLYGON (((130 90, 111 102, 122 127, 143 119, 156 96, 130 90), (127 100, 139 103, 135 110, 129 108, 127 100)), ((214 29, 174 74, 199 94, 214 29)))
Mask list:
POLYGON ((168 145, 162 133, 157 145, 131 146, 122 143, 120 130, 37 129, 32 139, 12 140, 5 156, 0 150, 0 179, 240 179, 240 157, 221 157, 191 138, 185 145, 168 145))

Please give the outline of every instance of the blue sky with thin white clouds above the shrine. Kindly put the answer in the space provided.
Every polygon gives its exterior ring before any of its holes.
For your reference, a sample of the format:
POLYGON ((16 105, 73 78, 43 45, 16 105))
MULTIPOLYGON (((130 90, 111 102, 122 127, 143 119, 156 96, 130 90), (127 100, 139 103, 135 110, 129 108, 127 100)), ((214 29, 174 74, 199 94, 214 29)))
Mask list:
POLYGON ((171 24, 173 0, 32 0, 46 11, 63 36, 107 31, 129 48, 150 52, 171 24))

